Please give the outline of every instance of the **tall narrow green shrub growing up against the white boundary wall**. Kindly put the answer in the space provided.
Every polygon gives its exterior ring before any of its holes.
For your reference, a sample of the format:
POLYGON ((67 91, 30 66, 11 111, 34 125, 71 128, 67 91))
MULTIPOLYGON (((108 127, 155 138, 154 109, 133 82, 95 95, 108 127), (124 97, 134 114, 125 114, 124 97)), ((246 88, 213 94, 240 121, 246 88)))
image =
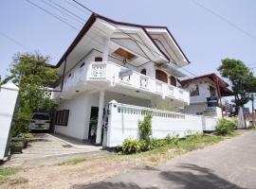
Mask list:
POLYGON ((152 135, 152 114, 148 113, 145 115, 143 121, 138 122, 138 133, 140 140, 150 140, 152 135))

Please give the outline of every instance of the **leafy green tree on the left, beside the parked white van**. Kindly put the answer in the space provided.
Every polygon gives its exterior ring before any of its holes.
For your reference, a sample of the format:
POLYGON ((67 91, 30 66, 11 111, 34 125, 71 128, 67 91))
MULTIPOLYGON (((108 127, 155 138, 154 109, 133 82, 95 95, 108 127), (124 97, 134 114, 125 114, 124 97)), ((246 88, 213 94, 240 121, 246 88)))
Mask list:
POLYGON ((40 53, 17 54, 10 64, 9 77, 19 86, 19 107, 14 135, 28 130, 32 112, 49 111, 58 102, 51 99, 49 87, 58 80, 57 70, 48 66, 49 57, 40 53))

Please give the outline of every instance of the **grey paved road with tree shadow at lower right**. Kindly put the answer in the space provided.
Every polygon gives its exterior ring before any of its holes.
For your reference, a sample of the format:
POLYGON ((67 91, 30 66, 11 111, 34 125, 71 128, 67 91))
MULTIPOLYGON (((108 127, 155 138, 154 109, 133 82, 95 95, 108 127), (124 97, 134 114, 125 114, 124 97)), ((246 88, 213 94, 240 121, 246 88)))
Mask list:
POLYGON ((256 188, 256 131, 76 189, 256 188))

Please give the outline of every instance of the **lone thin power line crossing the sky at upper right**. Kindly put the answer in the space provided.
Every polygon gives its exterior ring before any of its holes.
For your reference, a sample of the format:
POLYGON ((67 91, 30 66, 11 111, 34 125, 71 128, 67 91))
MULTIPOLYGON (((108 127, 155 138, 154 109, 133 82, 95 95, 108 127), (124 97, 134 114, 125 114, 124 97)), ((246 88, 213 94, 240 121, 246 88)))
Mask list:
POLYGON ((228 23, 229 26, 233 26, 234 28, 238 29, 239 31, 241 31, 242 33, 244 33, 245 35, 247 35, 248 37, 250 37, 251 39, 256 41, 256 36, 254 36, 252 33, 248 32, 247 30, 243 29, 241 26, 237 26, 236 24, 232 23, 231 21, 229 21, 227 18, 225 18, 224 16, 220 15, 219 13, 213 11, 210 8, 205 7, 204 5, 198 3, 196 0, 191 0, 192 3, 194 3, 195 5, 197 5, 198 7, 202 8, 202 9, 206 9, 207 11, 209 11, 212 15, 218 17, 219 19, 223 20, 224 22, 228 23))

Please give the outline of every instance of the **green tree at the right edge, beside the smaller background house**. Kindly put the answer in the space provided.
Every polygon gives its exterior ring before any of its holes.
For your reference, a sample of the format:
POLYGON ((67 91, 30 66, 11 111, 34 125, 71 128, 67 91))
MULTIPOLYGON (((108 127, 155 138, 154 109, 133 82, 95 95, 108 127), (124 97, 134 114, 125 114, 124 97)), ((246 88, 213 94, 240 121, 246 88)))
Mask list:
POLYGON ((256 78, 241 60, 225 59, 218 67, 222 77, 229 78, 236 107, 243 107, 250 100, 250 93, 256 92, 256 78))

